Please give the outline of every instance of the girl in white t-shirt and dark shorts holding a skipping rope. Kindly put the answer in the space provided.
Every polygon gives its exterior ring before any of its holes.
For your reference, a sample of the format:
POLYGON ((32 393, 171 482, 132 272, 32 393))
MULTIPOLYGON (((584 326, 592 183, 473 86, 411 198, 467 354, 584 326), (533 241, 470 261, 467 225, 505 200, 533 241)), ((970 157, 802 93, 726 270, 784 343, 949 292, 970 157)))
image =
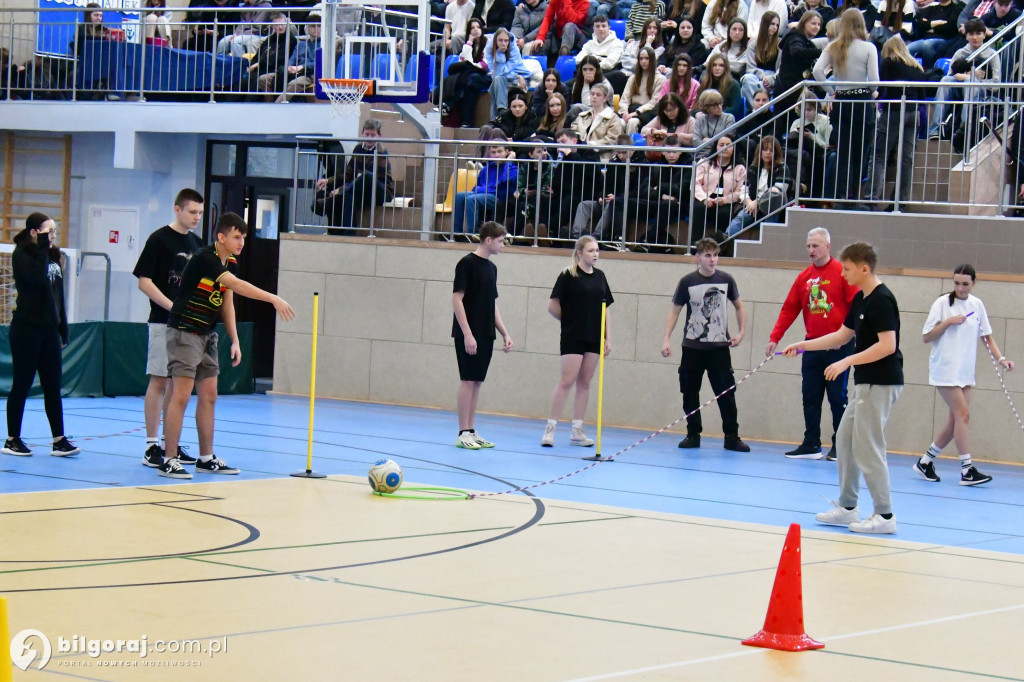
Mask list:
POLYGON ((977 359, 978 337, 988 345, 1008 372, 1014 369, 992 339, 992 327, 981 299, 971 294, 977 273, 971 265, 953 270, 953 291, 939 297, 928 311, 923 330, 925 343, 932 344, 928 359, 928 383, 935 386, 949 406, 949 419, 935 436, 928 452, 913 465, 925 480, 938 482, 935 458, 950 440, 956 441, 961 458, 961 485, 978 485, 992 480, 971 463, 968 422, 971 418, 971 387, 977 359))

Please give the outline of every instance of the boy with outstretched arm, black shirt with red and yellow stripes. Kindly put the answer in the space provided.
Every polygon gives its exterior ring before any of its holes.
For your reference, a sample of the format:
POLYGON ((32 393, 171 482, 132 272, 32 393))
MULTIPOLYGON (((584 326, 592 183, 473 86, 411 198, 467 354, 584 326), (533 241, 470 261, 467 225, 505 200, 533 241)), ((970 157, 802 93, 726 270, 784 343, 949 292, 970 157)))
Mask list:
MULTIPOLYGON (((164 420, 167 453, 177 453, 185 406, 195 388, 200 454, 197 473, 239 473, 213 456, 213 410, 220 372, 216 326, 221 319, 231 339, 231 366, 242 361, 234 327, 234 293, 272 304, 286 322, 295 318, 295 311, 283 298, 234 275, 234 257, 242 253, 248 229, 234 213, 225 213, 217 220, 217 241, 197 251, 188 261, 167 322, 167 371, 171 376, 171 399, 164 420)), ((174 454, 165 454, 160 475, 191 478, 174 454)))

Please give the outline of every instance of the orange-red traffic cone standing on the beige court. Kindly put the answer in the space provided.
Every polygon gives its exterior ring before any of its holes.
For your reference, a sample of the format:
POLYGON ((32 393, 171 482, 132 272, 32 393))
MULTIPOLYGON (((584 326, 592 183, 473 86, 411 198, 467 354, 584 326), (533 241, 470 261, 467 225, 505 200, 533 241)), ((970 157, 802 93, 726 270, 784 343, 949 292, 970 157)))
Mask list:
POLYGON ((804 633, 804 588, 800 566, 800 525, 797 523, 791 524, 790 532, 785 535, 765 626, 754 637, 744 639, 743 644, 779 651, 804 651, 825 646, 804 633))

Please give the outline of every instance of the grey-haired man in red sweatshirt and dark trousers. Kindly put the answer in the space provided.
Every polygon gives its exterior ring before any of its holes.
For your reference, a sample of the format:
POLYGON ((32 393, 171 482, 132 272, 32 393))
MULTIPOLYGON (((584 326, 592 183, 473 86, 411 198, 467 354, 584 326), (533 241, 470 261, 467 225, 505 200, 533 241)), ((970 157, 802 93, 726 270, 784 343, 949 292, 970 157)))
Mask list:
MULTIPOLYGON (((807 233, 807 255, 811 264, 797 275, 790 289, 790 295, 782 303, 775 329, 768 340, 765 354, 775 352, 790 325, 799 313, 804 315, 807 329, 805 339, 816 339, 831 334, 843 326, 850 302, 859 291, 843 279, 843 265, 831 257, 828 230, 815 227, 807 233)), ((828 395, 828 406, 833 413, 833 434, 839 428, 843 412, 846 410, 846 380, 849 371, 825 381, 825 368, 850 354, 853 342, 829 350, 808 350, 804 353, 800 368, 803 375, 804 395, 804 440, 796 450, 785 454, 790 459, 821 459, 821 398, 828 395)), ((836 439, 826 459, 836 459, 836 439)))

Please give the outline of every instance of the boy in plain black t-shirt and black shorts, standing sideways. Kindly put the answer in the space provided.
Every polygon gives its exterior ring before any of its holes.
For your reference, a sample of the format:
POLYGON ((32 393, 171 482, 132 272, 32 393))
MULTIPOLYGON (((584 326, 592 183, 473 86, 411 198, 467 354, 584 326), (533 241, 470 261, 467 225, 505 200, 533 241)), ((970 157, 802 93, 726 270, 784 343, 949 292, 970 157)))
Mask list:
POLYGON ((490 257, 505 247, 505 227, 490 220, 480 226, 480 245, 455 267, 452 288, 452 338, 459 360, 459 438, 455 444, 467 450, 494 447, 473 428, 480 385, 487 377, 495 348, 495 328, 501 332, 504 350, 512 350, 512 337, 498 311, 498 268, 490 257))

